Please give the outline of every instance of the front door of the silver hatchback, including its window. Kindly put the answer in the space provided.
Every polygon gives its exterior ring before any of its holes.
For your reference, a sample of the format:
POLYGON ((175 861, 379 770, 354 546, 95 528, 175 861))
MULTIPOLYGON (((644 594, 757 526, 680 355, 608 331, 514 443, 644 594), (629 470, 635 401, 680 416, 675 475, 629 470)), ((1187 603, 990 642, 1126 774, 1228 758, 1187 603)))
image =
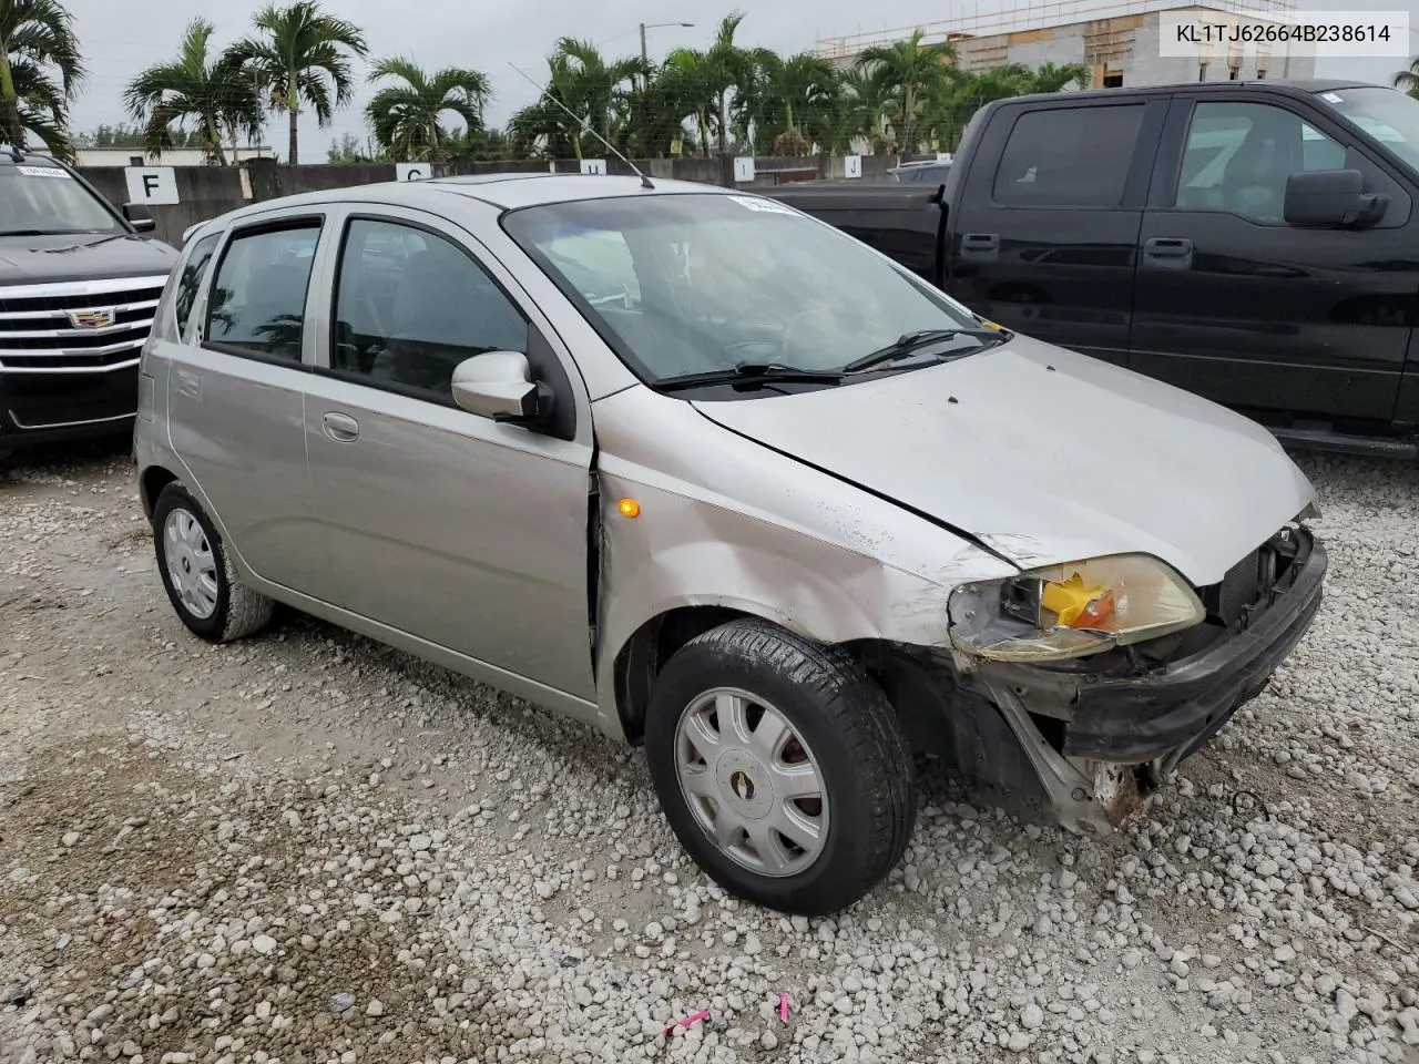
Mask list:
POLYGON ((484 262, 417 211, 346 220, 305 407, 319 535, 336 604, 590 699, 590 426, 555 438, 454 404, 460 362, 518 350, 576 410, 576 375, 484 262))

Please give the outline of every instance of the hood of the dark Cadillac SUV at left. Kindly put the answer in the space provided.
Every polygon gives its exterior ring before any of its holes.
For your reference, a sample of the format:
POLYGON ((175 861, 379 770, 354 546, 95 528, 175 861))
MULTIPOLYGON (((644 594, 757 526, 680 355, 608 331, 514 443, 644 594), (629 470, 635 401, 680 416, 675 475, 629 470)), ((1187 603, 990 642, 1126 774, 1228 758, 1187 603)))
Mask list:
POLYGON ((176 261, 177 253, 167 244, 136 235, 0 237, 0 285, 156 277, 176 261))

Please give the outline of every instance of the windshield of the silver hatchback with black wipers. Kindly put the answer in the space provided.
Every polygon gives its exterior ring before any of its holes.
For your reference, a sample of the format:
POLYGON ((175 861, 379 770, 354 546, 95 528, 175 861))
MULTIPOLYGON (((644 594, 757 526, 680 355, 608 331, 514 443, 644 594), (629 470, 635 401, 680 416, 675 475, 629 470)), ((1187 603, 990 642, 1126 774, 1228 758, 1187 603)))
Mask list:
MULTIPOLYGON (((904 333, 981 329, 905 270, 773 200, 582 200, 504 224, 647 383, 744 363, 841 370, 904 333)), ((979 346, 965 340, 964 353, 979 346)))

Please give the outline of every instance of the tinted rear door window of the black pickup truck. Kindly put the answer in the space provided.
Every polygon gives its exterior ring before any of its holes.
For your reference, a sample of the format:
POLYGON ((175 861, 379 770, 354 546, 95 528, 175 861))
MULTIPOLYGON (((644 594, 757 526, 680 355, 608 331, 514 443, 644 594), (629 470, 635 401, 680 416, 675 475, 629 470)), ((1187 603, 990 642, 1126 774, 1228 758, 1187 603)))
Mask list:
POLYGON ((1020 115, 995 174, 996 203, 1117 207, 1142 119, 1142 104, 1020 115))

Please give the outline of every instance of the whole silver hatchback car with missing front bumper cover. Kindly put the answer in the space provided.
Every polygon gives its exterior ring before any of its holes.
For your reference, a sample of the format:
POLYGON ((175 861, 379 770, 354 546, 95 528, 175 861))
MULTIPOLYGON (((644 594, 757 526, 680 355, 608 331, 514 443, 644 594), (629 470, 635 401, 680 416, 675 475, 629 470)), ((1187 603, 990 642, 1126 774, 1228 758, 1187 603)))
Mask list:
POLYGON ((700 184, 214 218, 139 400, 193 633, 282 602, 643 742, 685 850, 785 912, 891 871, 915 753, 1110 831, 1321 600, 1311 487, 1261 427, 700 184))

